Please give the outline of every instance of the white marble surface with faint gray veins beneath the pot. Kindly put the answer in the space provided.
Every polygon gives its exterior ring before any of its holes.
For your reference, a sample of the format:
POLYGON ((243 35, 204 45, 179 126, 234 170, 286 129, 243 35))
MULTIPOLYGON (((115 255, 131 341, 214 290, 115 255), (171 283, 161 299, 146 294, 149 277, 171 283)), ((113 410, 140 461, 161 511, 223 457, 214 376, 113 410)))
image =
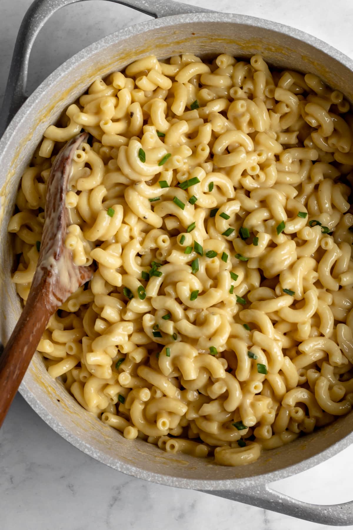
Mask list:
MULTIPOLYGON (((352 0, 185 2, 288 23, 353 57, 352 0)), ((16 32, 30 3, 31 0, 0 0, 0 102, 16 32)), ((147 19, 146 15, 102 0, 64 8, 48 22, 34 45, 29 92, 62 61, 90 42, 147 19), (77 16, 81 24, 79 31, 77 16)), ((277 482, 274 488, 308 502, 331 504, 351 500, 352 461, 353 446, 312 470, 277 482)), ((20 396, 16 397, 0 432, 1 530, 234 530, 238 527, 244 530, 334 528, 204 493, 130 478, 80 453, 53 432, 20 396)))

